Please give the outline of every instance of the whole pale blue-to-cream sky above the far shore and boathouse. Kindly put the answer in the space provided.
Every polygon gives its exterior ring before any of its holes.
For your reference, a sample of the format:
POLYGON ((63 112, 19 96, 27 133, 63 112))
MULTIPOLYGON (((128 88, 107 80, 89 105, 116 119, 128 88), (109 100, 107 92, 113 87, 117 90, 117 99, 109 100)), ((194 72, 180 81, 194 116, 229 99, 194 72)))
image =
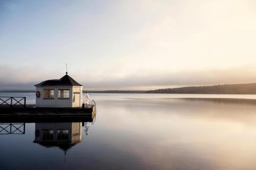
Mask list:
POLYGON ((0 0, 0 90, 256 82, 256 1, 0 0))

